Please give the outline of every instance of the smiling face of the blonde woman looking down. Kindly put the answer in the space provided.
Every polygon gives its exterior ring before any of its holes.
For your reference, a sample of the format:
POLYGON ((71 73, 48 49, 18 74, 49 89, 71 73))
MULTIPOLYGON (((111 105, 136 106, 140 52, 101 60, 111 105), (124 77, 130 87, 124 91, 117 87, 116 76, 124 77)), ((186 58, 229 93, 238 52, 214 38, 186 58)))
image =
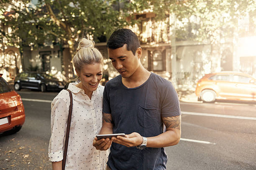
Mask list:
POLYGON ((80 83, 84 93, 89 97, 92 95, 92 92, 97 89, 100 80, 102 79, 102 64, 84 64, 81 70, 77 70, 77 75, 80 78, 80 83))

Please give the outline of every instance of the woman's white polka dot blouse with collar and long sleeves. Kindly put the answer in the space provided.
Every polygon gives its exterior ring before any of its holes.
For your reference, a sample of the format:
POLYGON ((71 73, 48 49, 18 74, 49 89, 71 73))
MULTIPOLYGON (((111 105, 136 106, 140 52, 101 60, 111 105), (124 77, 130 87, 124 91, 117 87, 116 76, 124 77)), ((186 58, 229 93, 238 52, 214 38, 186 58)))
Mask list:
MULTIPOLYGON (((100 151, 92 145, 102 127, 102 100, 104 87, 99 85, 92 98, 84 90, 70 83, 73 110, 69 132, 69 145, 65 170, 105 170, 108 150, 100 151)), ((70 98, 67 90, 61 90, 51 103, 51 139, 49 160, 61 161, 69 114, 70 98)))

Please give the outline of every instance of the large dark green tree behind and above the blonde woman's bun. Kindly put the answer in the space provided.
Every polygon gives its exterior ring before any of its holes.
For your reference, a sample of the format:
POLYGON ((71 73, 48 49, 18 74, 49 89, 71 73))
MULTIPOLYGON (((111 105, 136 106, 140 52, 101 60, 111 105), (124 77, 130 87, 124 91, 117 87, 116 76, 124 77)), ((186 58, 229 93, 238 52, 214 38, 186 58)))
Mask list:
POLYGON ((9 45, 31 46, 33 50, 46 41, 58 43, 69 48, 69 58, 64 60, 69 65, 79 37, 99 42, 123 25, 120 12, 113 10, 116 0, 40 0, 37 4, 29 0, 4 2, 5 6, 11 6, 12 15, 1 18, 1 22, 11 25, 13 32, 9 36, 2 31, 1 36, 8 38, 9 45))

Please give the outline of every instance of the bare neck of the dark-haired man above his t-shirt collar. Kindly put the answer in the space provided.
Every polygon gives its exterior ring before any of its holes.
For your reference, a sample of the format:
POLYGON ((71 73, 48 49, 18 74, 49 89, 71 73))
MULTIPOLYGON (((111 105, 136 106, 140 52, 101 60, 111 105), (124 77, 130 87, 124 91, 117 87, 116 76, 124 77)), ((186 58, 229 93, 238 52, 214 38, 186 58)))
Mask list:
POLYGON ((131 77, 122 77, 123 85, 125 85, 125 87, 127 88, 138 87, 148 80, 150 74, 151 72, 149 72, 142 65, 140 65, 131 77))

